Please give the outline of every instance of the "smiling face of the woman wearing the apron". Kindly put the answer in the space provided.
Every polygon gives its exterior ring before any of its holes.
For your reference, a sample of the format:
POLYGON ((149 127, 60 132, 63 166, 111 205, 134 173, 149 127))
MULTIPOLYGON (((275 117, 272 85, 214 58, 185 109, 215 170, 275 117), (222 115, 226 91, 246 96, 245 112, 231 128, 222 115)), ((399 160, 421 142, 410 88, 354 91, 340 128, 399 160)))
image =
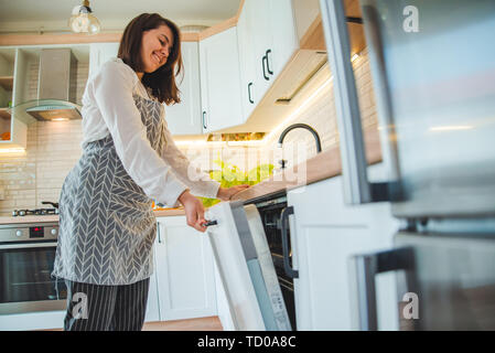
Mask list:
POLYGON ((166 63, 173 46, 173 33, 168 25, 142 33, 141 58, 144 73, 152 73, 166 63))

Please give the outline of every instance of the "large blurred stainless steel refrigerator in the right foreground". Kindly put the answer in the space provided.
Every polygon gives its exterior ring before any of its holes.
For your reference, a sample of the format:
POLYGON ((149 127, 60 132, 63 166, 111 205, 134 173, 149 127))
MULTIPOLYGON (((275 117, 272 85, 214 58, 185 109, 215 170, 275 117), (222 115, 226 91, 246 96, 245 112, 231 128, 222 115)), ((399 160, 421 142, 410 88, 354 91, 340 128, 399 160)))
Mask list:
POLYGON ((390 202, 394 248, 349 258, 354 322, 378 330, 395 271, 400 330, 495 329, 495 1, 361 0, 387 179, 370 181, 344 1, 320 0, 347 204, 390 202))

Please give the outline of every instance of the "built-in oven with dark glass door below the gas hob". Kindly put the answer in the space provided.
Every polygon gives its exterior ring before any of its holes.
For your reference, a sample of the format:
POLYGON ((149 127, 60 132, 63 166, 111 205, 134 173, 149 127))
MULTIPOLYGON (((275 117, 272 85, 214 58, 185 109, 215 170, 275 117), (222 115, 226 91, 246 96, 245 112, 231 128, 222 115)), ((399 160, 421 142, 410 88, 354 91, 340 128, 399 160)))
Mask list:
POLYGON ((51 277, 57 235, 57 223, 0 225, 0 314, 65 310, 65 282, 51 277))

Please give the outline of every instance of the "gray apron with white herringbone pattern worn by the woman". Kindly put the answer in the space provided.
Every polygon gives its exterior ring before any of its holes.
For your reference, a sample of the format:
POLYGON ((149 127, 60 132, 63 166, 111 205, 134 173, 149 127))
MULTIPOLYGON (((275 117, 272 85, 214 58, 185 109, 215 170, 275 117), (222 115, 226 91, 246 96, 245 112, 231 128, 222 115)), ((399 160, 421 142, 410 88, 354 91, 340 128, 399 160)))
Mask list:
MULTIPOLYGON (((163 106, 133 95, 151 147, 165 143, 163 106)), ((131 285, 153 272, 157 221, 151 200, 129 176, 110 135, 87 143, 64 181, 53 276, 94 285, 131 285)))

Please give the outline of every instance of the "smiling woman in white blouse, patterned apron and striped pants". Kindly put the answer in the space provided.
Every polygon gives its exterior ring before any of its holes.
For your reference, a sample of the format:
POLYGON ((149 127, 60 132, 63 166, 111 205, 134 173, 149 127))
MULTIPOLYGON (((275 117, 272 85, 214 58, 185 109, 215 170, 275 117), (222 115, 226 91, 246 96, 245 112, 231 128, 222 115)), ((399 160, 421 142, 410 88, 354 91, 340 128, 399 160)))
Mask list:
POLYGON ((157 232, 151 199, 182 204, 187 225, 205 232, 191 192, 226 201, 248 188, 191 175, 162 105, 180 101, 181 69, 177 26, 143 13, 127 25, 118 57, 87 83, 83 156, 62 188, 53 271, 67 285, 65 330, 141 330, 157 232))

